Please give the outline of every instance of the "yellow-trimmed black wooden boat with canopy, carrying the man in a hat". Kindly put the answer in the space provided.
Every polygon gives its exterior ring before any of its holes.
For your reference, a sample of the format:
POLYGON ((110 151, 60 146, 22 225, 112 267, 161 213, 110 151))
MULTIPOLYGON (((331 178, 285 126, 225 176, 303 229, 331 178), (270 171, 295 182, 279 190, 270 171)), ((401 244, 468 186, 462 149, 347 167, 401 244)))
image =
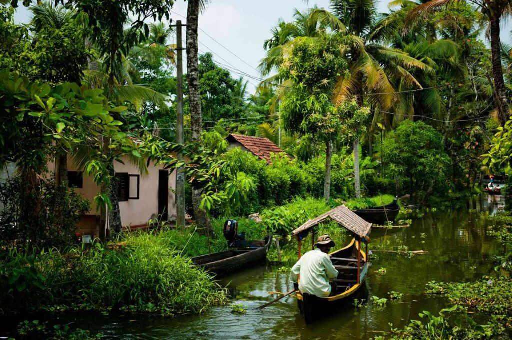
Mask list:
POLYGON ((306 323, 313 322, 315 316, 325 315, 326 310, 343 306, 347 300, 350 300, 349 298, 354 297, 365 286, 368 275, 368 251, 361 250, 361 242, 365 242, 368 249, 368 234, 371 231, 372 223, 362 219, 345 206, 339 206, 309 220, 292 232, 292 235, 298 240, 299 258, 302 254, 302 239, 311 231, 314 242, 315 226, 326 220, 336 221, 350 231, 354 238, 347 246, 329 254, 338 270, 338 276, 334 280, 337 288, 335 292, 331 293, 331 296, 317 297, 307 292, 297 291, 298 308, 304 315, 306 323))

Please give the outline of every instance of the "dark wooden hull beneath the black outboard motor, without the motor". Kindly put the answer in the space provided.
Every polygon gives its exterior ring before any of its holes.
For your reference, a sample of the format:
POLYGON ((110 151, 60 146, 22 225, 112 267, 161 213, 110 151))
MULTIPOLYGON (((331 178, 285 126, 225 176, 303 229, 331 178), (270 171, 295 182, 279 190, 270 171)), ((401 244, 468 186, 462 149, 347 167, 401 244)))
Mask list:
POLYGON ((269 237, 266 244, 263 240, 258 241, 264 245, 256 248, 234 248, 224 252, 196 256, 192 258, 192 261, 217 276, 222 276, 233 270, 264 262, 272 242, 272 236, 269 237))

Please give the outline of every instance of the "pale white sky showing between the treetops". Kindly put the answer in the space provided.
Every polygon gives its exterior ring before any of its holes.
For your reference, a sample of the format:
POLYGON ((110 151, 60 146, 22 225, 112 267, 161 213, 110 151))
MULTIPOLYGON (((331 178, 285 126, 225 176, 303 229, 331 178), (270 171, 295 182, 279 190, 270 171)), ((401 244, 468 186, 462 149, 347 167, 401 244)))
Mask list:
MULTIPOLYGON (((387 0, 380 0, 380 12, 388 11, 388 3, 387 0)), ((260 78, 255 69, 265 56, 263 42, 270 37, 270 29, 280 18, 290 21, 294 8, 303 10, 315 4, 328 8, 329 0, 310 0, 309 4, 303 0, 212 0, 206 12, 200 17, 199 27, 232 53, 201 30, 199 53, 212 52, 216 62, 236 70, 231 71, 233 78, 239 78, 240 72, 260 78)), ((175 21, 181 19, 185 23, 186 19, 180 15, 186 16, 187 5, 188 3, 183 0, 176 1, 171 15, 175 21)), ((15 20, 28 22, 27 9, 20 6, 15 14, 15 20)), ((185 39, 185 32, 183 38, 185 39)), ((503 28, 501 38, 510 42, 510 26, 503 28)), ((176 43, 176 39, 173 39, 172 43, 176 43)), ((258 80, 244 78, 249 80, 249 93, 253 93, 258 80)))

